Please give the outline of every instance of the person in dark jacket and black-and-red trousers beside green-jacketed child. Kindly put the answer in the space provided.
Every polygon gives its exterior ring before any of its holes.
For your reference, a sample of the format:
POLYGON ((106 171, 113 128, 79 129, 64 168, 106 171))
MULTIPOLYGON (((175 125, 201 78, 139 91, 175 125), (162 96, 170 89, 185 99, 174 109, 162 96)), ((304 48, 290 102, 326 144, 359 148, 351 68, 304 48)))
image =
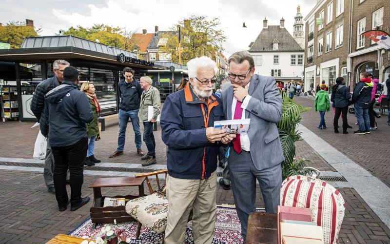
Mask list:
POLYGON ((332 95, 331 101, 335 106, 334 118, 333 118, 333 128, 334 133, 338 132, 338 119, 340 114, 343 118, 343 134, 348 134, 348 105, 351 99, 351 93, 348 86, 345 85, 344 78, 338 77, 336 79, 336 84, 332 86, 332 95))

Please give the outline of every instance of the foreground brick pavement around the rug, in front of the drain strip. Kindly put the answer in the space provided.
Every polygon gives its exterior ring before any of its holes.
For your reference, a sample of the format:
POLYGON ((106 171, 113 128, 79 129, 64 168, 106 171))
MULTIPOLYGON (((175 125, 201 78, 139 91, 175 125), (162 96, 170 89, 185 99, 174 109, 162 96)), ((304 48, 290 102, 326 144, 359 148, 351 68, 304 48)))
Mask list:
MULTIPOLYGON (((93 197, 92 189, 87 185, 95 179, 93 176, 84 177, 83 196, 93 197)), ((356 191, 351 188, 339 190, 346 201, 340 243, 390 243, 389 228, 356 191)), ((137 189, 102 188, 102 193, 109 196, 137 194, 137 189)), ((217 204, 234 203, 232 191, 225 191, 217 185, 217 201, 217 204)), ((68 208, 59 212, 55 196, 45 190, 42 174, 3 170, 0 172, 0 243, 44 243, 59 233, 69 233, 89 217, 91 205, 92 201, 77 211, 70 212, 68 208)), ((256 205, 261 207, 262 201, 256 205)))

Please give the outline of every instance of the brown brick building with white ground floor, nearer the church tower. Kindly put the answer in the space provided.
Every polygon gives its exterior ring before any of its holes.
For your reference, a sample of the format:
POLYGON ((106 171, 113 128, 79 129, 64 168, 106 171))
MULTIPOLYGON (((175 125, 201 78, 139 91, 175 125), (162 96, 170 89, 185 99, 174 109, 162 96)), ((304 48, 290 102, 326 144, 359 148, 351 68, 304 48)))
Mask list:
POLYGON ((317 0, 305 17, 305 91, 347 79, 350 0, 317 0))

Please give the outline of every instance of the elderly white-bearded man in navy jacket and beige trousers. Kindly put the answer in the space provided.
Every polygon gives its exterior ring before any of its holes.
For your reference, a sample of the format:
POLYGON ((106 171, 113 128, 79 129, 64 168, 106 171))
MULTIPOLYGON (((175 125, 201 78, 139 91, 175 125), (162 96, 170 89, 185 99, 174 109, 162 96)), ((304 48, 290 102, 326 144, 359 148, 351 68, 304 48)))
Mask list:
POLYGON ((168 146, 168 224, 165 243, 184 243, 188 217, 193 211, 195 243, 212 243, 215 226, 216 165, 219 142, 235 135, 215 129, 224 120, 222 102, 213 95, 218 71, 208 57, 187 62, 190 82, 167 97, 161 112, 161 137, 168 146))

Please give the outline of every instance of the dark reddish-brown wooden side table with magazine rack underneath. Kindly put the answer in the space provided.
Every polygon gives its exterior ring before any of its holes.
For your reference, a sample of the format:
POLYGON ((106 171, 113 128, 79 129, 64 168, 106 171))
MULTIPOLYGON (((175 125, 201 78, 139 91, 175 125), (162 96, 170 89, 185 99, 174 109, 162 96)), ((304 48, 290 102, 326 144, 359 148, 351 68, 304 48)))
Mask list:
POLYGON ((94 183, 88 185, 89 188, 94 188, 94 204, 89 209, 91 214, 91 221, 95 223, 96 227, 98 223, 114 223, 137 221, 125 211, 125 206, 106 206, 103 207, 104 198, 107 196, 101 195, 101 187, 118 187, 118 186, 138 186, 138 195, 126 195, 126 196, 113 196, 113 198, 135 199, 145 196, 143 190, 143 183, 145 177, 116 177, 116 178, 99 178, 94 183))

